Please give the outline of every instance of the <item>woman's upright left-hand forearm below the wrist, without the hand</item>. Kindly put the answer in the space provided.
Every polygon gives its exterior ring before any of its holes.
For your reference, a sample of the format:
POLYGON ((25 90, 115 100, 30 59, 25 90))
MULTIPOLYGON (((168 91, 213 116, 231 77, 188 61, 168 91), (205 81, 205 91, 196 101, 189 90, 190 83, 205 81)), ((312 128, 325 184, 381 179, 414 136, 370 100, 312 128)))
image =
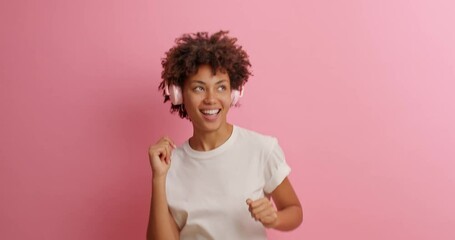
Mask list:
POLYGON ((177 225, 169 212, 165 178, 152 180, 152 199, 150 204, 147 239, 179 239, 177 225))

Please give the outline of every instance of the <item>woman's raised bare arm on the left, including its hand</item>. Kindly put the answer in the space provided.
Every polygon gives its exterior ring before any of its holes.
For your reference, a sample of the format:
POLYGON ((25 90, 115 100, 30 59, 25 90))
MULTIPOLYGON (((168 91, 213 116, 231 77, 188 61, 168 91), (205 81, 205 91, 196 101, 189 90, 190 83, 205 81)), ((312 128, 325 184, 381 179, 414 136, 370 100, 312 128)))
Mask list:
POLYGON ((152 199, 147 228, 148 240, 178 240, 179 229, 175 223, 166 197, 166 175, 171 165, 171 153, 175 148, 169 138, 160 139, 149 148, 152 166, 152 199))

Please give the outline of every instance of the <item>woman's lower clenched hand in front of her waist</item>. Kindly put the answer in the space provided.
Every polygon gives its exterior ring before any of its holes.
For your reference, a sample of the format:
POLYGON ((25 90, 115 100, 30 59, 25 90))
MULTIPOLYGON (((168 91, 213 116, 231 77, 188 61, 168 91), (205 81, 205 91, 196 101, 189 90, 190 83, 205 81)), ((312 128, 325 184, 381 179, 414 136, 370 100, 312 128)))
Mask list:
POLYGON ((256 221, 260 221, 264 227, 273 228, 277 225, 277 210, 268 198, 264 197, 256 201, 248 198, 246 204, 249 206, 248 210, 251 213, 251 217, 256 221))

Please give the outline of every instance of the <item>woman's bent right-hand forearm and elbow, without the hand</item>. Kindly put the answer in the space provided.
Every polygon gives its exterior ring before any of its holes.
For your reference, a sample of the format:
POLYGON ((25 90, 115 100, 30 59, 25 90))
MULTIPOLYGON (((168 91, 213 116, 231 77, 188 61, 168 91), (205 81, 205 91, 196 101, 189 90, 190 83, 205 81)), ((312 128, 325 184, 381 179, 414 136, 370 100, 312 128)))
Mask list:
POLYGON ((280 231, 291 231, 297 228, 303 219, 301 206, 289 206, 277 213, 277 224, 273 227, 280 231))

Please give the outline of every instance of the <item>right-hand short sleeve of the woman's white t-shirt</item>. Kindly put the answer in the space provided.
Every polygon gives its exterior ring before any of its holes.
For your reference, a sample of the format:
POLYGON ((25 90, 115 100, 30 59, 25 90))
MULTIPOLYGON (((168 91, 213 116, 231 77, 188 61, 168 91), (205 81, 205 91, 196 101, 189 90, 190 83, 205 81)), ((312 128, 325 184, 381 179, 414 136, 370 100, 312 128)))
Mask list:
POLYGON ((271 151, 265 162, 264 192, 270 194, 289 175, 291 168, 286 163, 283 150, 274 138, 271 151))

